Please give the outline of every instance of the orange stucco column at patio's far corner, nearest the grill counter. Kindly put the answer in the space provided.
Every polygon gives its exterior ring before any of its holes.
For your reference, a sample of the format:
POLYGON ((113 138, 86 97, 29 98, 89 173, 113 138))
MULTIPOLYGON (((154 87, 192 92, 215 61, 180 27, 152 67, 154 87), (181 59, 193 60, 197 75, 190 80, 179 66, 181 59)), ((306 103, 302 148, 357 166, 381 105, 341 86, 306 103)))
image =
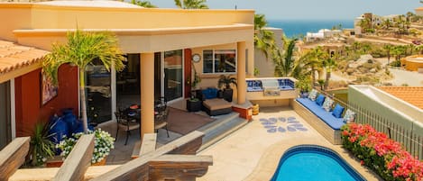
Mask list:
POLYGON ((238 53, 238 62, 236 62, 237 69, 237 95, 238 95, 238 104, 245 103, 245 93, 246 93, 246 82, 245 82, 245 41, 237 42, 237 53, 238 53))

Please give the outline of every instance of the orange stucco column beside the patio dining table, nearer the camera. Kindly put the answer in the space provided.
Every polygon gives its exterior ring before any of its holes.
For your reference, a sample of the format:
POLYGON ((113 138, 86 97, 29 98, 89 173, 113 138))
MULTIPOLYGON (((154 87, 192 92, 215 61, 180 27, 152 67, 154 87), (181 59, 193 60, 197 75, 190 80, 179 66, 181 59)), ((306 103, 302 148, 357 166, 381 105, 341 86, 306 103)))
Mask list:
POLYGON ((141 138, 154 132, 154 53, 141 54, 141 138))

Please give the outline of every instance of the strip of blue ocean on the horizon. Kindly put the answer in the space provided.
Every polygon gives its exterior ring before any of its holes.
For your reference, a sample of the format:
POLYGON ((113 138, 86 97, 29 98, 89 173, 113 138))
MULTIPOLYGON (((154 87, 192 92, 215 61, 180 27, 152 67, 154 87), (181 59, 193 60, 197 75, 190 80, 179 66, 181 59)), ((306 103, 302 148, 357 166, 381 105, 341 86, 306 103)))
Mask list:
POLYGON ((318 32, 320 29, 332 29, 333 26, 342 25, 341 28, 354 28, 354 20, 268 20, 268 26, 281 28, 289 38, 306 35, 307 32, 318 32))

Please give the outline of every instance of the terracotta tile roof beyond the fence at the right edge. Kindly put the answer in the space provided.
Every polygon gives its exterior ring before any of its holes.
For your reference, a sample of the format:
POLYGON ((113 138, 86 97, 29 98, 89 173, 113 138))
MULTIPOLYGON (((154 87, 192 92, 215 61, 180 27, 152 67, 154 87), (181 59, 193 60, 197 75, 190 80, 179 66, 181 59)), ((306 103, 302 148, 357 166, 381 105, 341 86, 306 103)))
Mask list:
POLYGON ((423 86, 379 86, 378 88, 423 110, 423 86))

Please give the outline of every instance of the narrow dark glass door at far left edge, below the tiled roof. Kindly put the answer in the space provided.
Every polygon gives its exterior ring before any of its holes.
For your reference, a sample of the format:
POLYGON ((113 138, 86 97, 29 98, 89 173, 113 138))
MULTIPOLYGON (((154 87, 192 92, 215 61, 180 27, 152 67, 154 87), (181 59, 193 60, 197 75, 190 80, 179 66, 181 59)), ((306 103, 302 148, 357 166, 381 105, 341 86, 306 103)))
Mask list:
POLYGON ((12 140, 10 82, 0 84, 0 149, 12 140))

